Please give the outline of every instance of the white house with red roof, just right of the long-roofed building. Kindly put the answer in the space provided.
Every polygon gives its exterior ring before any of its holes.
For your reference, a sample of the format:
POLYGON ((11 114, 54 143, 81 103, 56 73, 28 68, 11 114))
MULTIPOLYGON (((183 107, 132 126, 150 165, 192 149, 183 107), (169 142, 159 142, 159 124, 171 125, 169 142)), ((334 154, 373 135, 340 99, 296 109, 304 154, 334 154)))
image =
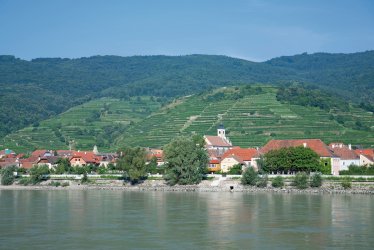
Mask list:
POLYGON ((360 157, 350 144, 347 146, 343 143, 330 143, 329 148, 334 156, 339 158, 339 171, 348 170, 350 165, 360 165, 360 157))

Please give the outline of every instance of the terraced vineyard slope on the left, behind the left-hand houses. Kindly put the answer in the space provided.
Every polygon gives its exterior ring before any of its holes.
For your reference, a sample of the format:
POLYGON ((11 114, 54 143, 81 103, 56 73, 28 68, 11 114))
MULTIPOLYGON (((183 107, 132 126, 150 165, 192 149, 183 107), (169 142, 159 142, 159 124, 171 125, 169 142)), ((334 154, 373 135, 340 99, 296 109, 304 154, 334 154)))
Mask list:
MULTIPOLYGON (((130 123, 143 120, 161 104, 150 97, 123 101, 102 98, 76 106, 37 127, 27 127, 5 137, 3 147, 18 151, 35 148, 67 149, 69 144, 81 150, 98 145, 109 150, 116 138, 130 123)), ((1 147, 1 146, 0 146, 1 147)))

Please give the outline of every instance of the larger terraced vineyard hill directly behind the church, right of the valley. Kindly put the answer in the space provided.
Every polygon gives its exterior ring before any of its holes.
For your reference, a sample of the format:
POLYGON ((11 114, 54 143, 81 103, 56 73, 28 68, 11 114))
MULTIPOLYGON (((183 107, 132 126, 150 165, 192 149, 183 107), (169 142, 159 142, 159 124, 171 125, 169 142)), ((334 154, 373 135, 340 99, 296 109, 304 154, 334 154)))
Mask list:
POLYGON ((215 135, 220 123, 225 125, 232 143, 242 147, 260 147, 270 139, 301 138, 320 138, 326 143, 342 141, 353 145, 374 145, 372 113, 353 107, 349 113, 333 112, 345 119, 345 123, 340 124, 331 119, 332 114, 319 108, 278 102, 273 87, 262 89, 262 94, 238 100, 206 101, 206 96, 183 98, 172 108, 130 127, 116 141, 116 146, 160 147, 178 135, 215 135), (354 121, 360 121, 369 129, 353 129, 354 121))

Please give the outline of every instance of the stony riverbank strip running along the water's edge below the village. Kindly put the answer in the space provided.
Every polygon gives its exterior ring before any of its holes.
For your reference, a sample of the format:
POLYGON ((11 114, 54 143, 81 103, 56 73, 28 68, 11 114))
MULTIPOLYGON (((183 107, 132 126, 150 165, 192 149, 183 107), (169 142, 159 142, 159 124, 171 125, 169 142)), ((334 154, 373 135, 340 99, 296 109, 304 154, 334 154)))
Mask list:
POLYGON ((110 183, 80 184, 79 182, 69 181, 69 186, 52 186, 45 182, 40 185, 23 186, 13 184, 10 186, 1 186, 0 190, 120 190, 120 191, 141 191, 141 192, 242 192, 242 193, 304 193, 304 194, 368 194, 374 195, 374 185, 355 183, 350 189, 344 189, 339 185, 326 183, 320 188, 296 189, 292 186, 284 188, 258 188, 252 186, 243 186, 238 180, 223 181, 219 185, 212 181, 203 181, 198 185, 175 185, 168 186, 164 181, 149 180, 138 185, 123 184, 123 182, 112 181, 110 183))

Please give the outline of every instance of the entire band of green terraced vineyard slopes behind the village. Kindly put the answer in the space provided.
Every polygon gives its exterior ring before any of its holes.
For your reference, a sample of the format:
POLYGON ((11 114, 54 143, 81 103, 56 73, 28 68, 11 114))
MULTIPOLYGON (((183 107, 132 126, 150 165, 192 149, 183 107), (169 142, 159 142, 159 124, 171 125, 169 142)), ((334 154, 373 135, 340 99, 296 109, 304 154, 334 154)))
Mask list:
MULTIPOLYGON (((102 98, 5 137, 1 147, 116 150, 122 146, 162 147, 178 135, 215 135, 221 123, 236 146, 261 147, 270 139, 320 138, 325 143, 374 146, 374 116, 351 107, 347 113, 280 103, 275 87, 243 95, 240 88, 183 97, 167 106, 151 97, 123 101, 102 98), (215 94, 221 98, 215 99, 215 94), (235 94, 241 93, 240 96, 235 94), (219 95, 217 95, 219 96, 219 95), (222 98, 222 96, 224 96, 222 98), (339 116, 343 122, 337 122, 339 116), (357 123, 361 130, 357 130, 357 123)), ((254 90, 254 88, 252 88, 254 90)))

